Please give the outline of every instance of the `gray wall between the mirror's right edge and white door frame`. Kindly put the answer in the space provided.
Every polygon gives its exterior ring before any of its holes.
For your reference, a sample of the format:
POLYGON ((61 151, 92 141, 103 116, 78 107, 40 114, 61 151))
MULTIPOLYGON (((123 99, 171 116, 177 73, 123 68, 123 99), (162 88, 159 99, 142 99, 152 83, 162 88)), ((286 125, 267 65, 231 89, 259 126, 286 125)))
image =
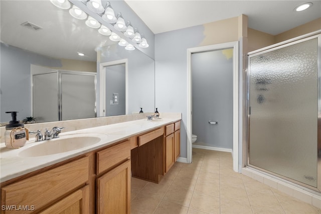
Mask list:
POLYGON ((187 157, 187 49, 198 47, 204 27, 194 26, 155 35, 155 107, 181 112, 181 157, 187 157))

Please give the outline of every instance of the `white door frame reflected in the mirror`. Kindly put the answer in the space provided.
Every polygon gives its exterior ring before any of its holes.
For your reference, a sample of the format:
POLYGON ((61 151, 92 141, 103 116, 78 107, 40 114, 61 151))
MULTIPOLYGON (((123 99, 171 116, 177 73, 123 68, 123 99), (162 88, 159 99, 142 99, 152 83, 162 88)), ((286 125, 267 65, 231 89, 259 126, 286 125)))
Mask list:
POLYGON ((106 67, 125 64, 125 114, 128 115, 128 59, 99 63, 99 117, 106 116, 106 67))

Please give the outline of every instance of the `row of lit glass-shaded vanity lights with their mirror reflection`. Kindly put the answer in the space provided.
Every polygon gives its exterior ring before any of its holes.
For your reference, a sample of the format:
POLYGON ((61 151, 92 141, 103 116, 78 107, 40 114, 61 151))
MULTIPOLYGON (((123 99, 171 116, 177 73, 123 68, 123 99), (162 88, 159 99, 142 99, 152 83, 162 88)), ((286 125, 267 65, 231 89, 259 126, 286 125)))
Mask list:
MULTIPOLYGON (((115 16, 114 10, 111 8, 110 2, 106 3, 106 6, 103 7, 101 0, 80 0, 83 4, 87 6, 92 12, 101 16, 101 18, 112 24, 117 31, 123 33, 123 35, 132 42, 138 44, 140 48, 147 48, 149 45, 147 43, 146 38, 144 38, 137 29, 133 30, 130 22, 128 21, 125 23, 124 18, 122 17, 121 13, 118 13, 115 16)), ((107 27, 101 25, 96 19, 92 18, 91 16, 87 15, 84 11, 79 9, 77 6, 70 4, 68 0, 50 0, 50 2, 58 8, 67 10, 69 9, 69 13, 76 19, 79 20, 86 20, 86 25, 90 28, 97 28, 99 29, 98 32, 104 36, 110 36, 109 39, 112 41, 120 41, 120 37, 112 32, 107 27), (71 7, 72 6, 72 7, 71 7), (71 9, 70 9, 71 8, 71 9), (88 17, 88 18, 87 18, 88 17), (118 38, 115 38, 118 36, 118 38)), ((80 7, 80 6, 79 6, 80 7)), ((126 50, 134 50, 134 46, 129 44, 128 42, 125 43, 126 40, 122 39, 122 42, 118 44, 120 46, 125 46, 126 50)))

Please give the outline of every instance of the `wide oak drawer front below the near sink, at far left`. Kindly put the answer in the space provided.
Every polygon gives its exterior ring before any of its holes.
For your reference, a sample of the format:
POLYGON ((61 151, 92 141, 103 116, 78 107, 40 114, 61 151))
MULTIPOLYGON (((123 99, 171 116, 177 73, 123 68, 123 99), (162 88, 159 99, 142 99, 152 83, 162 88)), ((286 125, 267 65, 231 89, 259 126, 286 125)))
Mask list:
POLYGON ((84 185, 89 179, 89 157, 83 157, 1 188, 7 205, 34 205, 36 210, 84 185))

